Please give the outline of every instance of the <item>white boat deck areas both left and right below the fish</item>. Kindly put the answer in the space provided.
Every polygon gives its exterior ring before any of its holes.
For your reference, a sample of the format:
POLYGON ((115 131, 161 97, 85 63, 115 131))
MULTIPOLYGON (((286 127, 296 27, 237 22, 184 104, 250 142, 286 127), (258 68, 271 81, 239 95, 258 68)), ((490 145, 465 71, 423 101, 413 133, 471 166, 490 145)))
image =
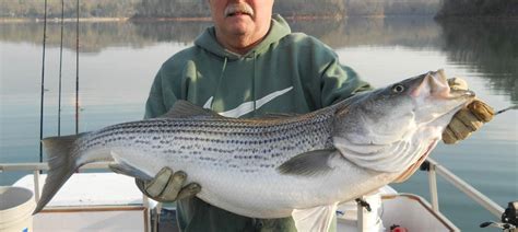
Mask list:
MULTIPOLYGON (((37 175, 44 183, 46 175, 37 175)), ((13 186, 34 189, 35 177, 26 175, 13 186)), ((39 187, 43 187, 42 185, 39 187)), ((373 212, 348 202, 339 206, 338 231, 372 231, 398 224, 410 231, 459 231, 443 214, 432 210, 423 198, 411 194, 398 194, 390 187, 381 188, 381 202, 366 198, 373 212), (373 214, 374 213, 374 214, 373 214), (378 217, 381 219, 381 221, 378 217), (358 227, 365 221, 364 228, 358 227), (375 221, 373 221, 375 220, 375 221)), ((379 199, 379 197, 378 197, 379 199)), ((156 201, 143 197, 132 177, 115 173, 74 174, 47 207, 34 217, 34 231, 176 231, 174 209, 161 209, 156 201), (158 214, 152 213, 158 209, 158 214), (153 217, 160 218, 154 223, 153 217)))

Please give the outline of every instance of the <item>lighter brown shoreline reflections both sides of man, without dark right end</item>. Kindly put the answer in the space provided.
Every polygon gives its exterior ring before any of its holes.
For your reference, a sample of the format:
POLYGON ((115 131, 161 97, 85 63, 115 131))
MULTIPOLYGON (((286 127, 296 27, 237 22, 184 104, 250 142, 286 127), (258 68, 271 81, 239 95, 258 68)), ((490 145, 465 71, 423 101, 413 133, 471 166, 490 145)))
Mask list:
MULTIPOLYGON (((80 44, 83 53, 97 53, 108 47, 143 47, 156 42, 191 43, 211 22, 82 22, 80 44)), ((333 48, 361 45, 401 45, 437 47, 440 30, 428 18, 389 18, 346 20, 290 21, 293 32, 313 35, 333 48)), ((43 23, 1 23, 0 39, 42 44, 43 23)), ((59 46, 60 24, 47 26, 47 44, 59 46)), ((75 49, 75 24, 64 24, 63 46, 75 49)))

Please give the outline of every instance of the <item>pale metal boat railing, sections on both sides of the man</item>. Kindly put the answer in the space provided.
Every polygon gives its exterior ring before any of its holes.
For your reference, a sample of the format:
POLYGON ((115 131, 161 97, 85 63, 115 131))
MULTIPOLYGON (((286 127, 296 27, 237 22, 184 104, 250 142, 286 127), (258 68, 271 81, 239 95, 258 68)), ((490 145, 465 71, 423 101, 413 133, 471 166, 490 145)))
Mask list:
MULTIPOLYGON (((109 162, 90 163, 80 167, 80 170, 108 170, 108 164, 109 162)), ((34 173, 34 192, 36 201, 39 199, 39 173, 40 171, 47 171, 49 167, 47 163, 0 163, 0 173, 7 171, 32 171, 34 173)), ((429 201, 432 205, 432 210, 434 210, 435 212, 439 212, 439 201, 437 193, 437 175, 439 175, 447 182, 449 182, 454 187, 461 190, 468 197, 473 199, 476 204, 479 204, 484 209, 494 214, 497 219, 499 219, 502 213, 504 213, 504 208, 498 206, 496 202, 491 200, 488 197, 476 190, 473 186, 462 181, 459 176, 455 175, 448 169, 440 165, 433 159, 428 158, 426 162, 421 165, 421 170, 428 172, 428 187, 431 194, 429 201)), ((145 202, 148 202, 145 195, 143 195, 143 197, 144 207, 149 208, 149 206, 145 205, 145 202)), ((157 208, 157 210, 160 210, 160 204, 157 208)), ((358 213, 358 217, 362 218, 362 213, 358 213)))

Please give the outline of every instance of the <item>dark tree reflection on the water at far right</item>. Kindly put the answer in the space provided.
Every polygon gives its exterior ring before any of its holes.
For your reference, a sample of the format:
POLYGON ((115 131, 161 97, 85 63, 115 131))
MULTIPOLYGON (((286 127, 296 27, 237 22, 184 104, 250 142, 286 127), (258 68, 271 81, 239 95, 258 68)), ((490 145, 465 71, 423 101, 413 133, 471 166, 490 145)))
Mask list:
POLYGON ((487 73, 490 89, 518 103, 518 23, 498 21, 443 22, 444 50, 452 62, 475 63, 487 73))

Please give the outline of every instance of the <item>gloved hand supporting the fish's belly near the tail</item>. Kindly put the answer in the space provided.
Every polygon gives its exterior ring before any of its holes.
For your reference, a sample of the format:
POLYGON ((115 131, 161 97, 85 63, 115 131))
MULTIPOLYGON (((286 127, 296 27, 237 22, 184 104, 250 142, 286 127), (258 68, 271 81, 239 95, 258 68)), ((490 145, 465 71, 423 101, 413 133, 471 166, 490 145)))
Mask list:
POLYGON ((185 187, 187 174, 183 171, 173 173, 169 167, 163 167, 153 179, 141 181, 136 178, 139 189, 151 199, 161 202, 172 202, 175 200, 193 197, 201 190, 197 183, 190 183, 185 187))

